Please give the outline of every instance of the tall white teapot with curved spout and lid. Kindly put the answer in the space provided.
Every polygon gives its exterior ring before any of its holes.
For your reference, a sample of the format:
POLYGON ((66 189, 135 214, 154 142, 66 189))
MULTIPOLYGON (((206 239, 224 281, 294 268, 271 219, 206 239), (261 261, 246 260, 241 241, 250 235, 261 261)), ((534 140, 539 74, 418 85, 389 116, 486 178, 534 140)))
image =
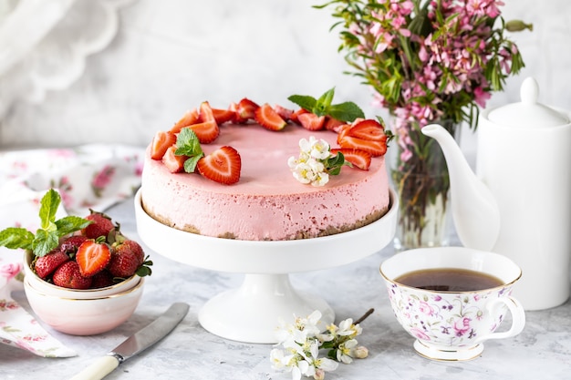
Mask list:
POLYGON ((571 114, 538 94, 528 77, 521 102, 481 113, 476 175, 444 128, 422 128, 444 152, 460 241, 522 268, 514 296, 526 310, 565 303, 571 288, 571 114))

